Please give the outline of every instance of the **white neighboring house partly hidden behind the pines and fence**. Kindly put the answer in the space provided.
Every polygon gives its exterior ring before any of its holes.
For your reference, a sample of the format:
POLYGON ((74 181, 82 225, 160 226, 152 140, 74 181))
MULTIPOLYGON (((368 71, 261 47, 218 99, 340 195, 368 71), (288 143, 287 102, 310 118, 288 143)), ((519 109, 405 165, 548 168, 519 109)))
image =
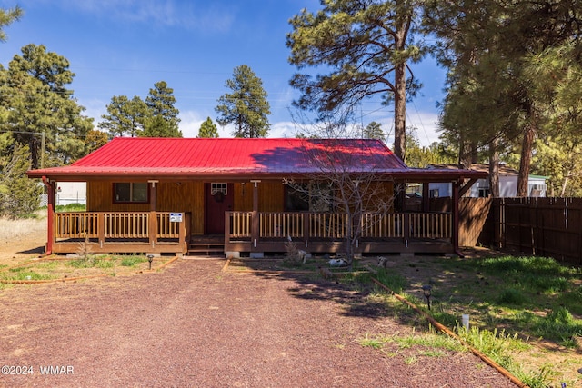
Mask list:
MULTIPOLYGON (((435 164, 429 168, 454 168, 457 169, 457 164, 435 164)), ((471 170, 489 173, 488 164, 471 164, 471 170)), ((499 165, 499 197, 515 197, 517 195, 517 177, 519 172, 505 164, 499 165)), ((545 197, 547 189, 547 176, 529 175, 527 178, 527 196, 545 197)), ((487 197, 491 193, 489 178, 481 178, 477 180, 466 196, 473 198, 487 197)), ((452 187, 445 182, 431 183, 428 185, 428 196, 430 198, 451 196, 452 187)))

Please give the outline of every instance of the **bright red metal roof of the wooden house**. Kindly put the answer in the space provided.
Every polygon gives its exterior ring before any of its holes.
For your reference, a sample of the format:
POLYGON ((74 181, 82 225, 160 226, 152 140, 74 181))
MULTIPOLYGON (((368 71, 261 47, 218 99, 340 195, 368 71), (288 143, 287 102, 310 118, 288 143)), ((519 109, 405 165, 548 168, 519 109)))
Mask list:
MULTIPOLYGON (((248 179, 249 175, 317 174, 330 168, 349 173, 418 174, 384 143, 373 139, 152 137, 118 137, 74 164, 27 174, 55 180, 118 175, 147 179, 223 175, 248 179)), ((454 175, 458 176, 458 171, 454 175)))

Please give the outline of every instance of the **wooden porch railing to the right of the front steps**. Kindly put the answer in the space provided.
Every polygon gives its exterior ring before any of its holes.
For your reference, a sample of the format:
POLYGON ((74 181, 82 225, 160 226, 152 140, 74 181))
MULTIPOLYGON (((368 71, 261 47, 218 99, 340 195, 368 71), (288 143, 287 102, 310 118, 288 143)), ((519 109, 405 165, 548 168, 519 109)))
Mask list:
MULTIPOLYGON (((252 212, 228 212, 226 221, 233 238, 252 237, 252 212)), ((258 238, 341 239, 346 236, 346 214, 258 213, 258 238)), ((361 237, 450 239, 450 213, 362 214, 361 237)))

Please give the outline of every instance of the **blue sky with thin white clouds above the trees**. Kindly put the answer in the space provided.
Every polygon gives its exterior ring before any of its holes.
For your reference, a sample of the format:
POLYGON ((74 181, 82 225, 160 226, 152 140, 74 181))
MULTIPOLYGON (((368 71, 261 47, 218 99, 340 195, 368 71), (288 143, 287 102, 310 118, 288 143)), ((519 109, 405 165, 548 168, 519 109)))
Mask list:
MULTIPOLYGON (((0 0, 4 8, 17 0, 0 0)), ((25 15, 5 32, 0 63, 7 66, 24 45, 45 45, 65 56, 75 73, 70 88, 95 124, 114 95, 145 98, 158 81, 174 89, 180 129, 194 137, 211 117, 238 65, 248 65, 262 79, 272 115, 271 137, 295 134, 289 86, 296 68, 289 65, 288 20, 302 8, 319 9, 318 0, 19 0, 25 15)), ((432 60, 415 65, 425 85, 407 105, 407 125, 418 128, 421 144, 437 140, 437 102, 443 98, 445 73, 432 60)), ((366 100, 363 124, 393 128, 391 107, 366 100)), ((230 129, 219 126, 221 137, 230 129)), ((393 131, 392 131, 393 132, 393 131)), ((393 139, 389 139, 389 144, 393 139)))

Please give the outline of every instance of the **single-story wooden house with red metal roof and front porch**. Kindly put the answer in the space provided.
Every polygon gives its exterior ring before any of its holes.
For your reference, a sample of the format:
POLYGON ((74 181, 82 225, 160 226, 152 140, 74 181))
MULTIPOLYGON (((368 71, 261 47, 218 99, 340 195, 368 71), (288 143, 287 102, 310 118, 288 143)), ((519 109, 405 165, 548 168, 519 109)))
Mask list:
POLYGON ((41 178, 49 195, 47 254, 75 252, 85 241, 95 253, 256 257, 285 252, 288 238, 309 253, 345 252, 348 223, 362 226, 357 253, 456 252, 457 205, 450 213, 407 213, 392 205, 395 187, 448 183, 457 204, 486 176, 411 169, 378 140, 274 138, 115 138, 73 164, 27 174, 41 178), (331 183, 326 190, 338 198, 342 179, 374 185, 390 205, 348 221, 312 189, 331 183), (63 182, 86 182, 85 212, 55 213, 63 182))

